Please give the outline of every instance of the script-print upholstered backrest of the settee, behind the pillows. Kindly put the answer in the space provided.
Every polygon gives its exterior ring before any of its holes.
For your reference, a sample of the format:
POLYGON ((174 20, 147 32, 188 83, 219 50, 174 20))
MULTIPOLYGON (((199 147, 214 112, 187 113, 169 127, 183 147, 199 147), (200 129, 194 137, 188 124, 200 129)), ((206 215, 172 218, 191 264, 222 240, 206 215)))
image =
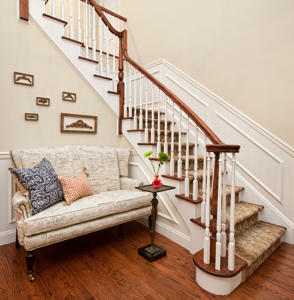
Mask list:
MULTIPOLYGON (((115 148, 67 145, 14 150, 10 151, 10 155, 13 167, 18 169, 32 168, 46 157, 59 177, 75 178, 86 167, 90 173, 88 180, 94 193, 121 188, 115 148)), ((128 159, 125 156, 124 161, 128 159)), ((126 175, 126 168, 121 168, 122 174, 126 175)))

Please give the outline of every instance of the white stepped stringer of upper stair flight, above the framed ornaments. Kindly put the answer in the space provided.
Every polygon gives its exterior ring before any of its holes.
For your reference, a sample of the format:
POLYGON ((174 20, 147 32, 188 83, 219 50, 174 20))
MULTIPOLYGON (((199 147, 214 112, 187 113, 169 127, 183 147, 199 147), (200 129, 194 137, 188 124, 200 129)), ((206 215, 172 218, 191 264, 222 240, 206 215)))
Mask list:
MULTIPOLYGON (((36 26, 49 39, 60 54, 74 68, 81 78, 90 86, 95 94, 105 103, 110 111, 118 117, 119 115, 119 98, 117 95, 108 94, 108 90, 112 90, 112 83, 105 86, 104 80, 94 78, 96 74, 96 66, 78 59, 81 56, 81 48, 62 40, 64 35, 63 24, 48 20, 43 17, 45 13, 45 3, 40 0, 29 0, 29 17, 36 26)), ((98 64, 99 65, 99 64, 98 64)))

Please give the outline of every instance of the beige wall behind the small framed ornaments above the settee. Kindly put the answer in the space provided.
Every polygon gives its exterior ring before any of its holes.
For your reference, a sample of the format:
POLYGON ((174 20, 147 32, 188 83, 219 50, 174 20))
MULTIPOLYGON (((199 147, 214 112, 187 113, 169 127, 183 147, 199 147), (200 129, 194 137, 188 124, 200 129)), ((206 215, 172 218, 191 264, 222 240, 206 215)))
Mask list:
POLYGON ((81 144, 127 147, 116 135, 117 119, 30 21, 17 21, 16 1, 5 1, 1 22, 0 152, 11 149, 81 144), (13 73, 34 75, 34 86, 15 84, 13 73), (62 92, 74 92, 77 101, 63 101, 62 92), (50 106, 36 105, 36 97, 50 98, 50 106), (25 113, 38 121, 25 121, 25 113), (60 132, 60 113, 98 116, 97 134, 60 132))

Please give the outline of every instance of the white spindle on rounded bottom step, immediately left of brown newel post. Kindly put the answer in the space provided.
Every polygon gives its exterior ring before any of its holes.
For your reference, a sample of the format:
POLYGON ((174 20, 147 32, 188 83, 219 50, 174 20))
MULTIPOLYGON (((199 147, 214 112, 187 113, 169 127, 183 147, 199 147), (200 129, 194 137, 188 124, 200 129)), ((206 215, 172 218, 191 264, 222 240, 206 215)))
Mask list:
POLYGON ((210 152, 207 157, 207 186, 206 186, 206 194, 207 197, 207 205, 205 207, 205 238, 204 238, 204 255, 203 262, 205 264, 209 264, 210 261, 210 238, 209 238, 209 225, 210 225, 210 152))

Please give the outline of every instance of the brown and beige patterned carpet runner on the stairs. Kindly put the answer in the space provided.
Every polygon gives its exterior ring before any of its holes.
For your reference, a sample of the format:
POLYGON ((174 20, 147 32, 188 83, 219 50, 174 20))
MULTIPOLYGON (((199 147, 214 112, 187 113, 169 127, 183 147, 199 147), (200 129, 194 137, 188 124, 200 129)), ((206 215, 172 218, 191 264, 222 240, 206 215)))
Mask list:
MULTIPOLYGON (((134 112, 134 109, 133 109, 134 112)), ((137 116, 139 110, 137 109, 137 116)), ((145 109, 143 109, 143 129, 145 128, 145 109)), ((155 129, 155 143, 157 143, 157 112, 154 113, 154 128, 155 129)), ((148 128, 149 128, 149 143, 151 141, 151 110, 148 110, 148 128)), ((164 120, 160 120, 160 142, 161 151, 164 145, 164 120)), ((171 158, 171 121, 168 121, 168 155, 171 158)), ((137 125, 137 129, 138 129, 137 125)), ((185 136, 185 133, 181 133, 185 136)), ((178 143, 179 132, 174 132, 174 160, 175 169, 174 174, 177 174, 177 161, 179 159, 178 143)), ((144 144, 144 143, 142 143, 144 144)), ((146 145, 146 144, 144 144, 146 145)), ((195 144, 189 143, 189 163, 188 163, 188 178, 190 181, 189 193, 193 194, 193 180, 194 180, 194 160, 193 155, 195 144)), ((182 178, 186 177, 186 143, 182 143, 182 178)), ((156 158, 153 158, 156 160, 156 158)), ((198 181, 198 200, 202 198, 203 188, 203 161, 204 156, 199 155, 197 159, 197 181, 198 181)), ((212 174, 210 170, 210 187, 212 187, 212 174)), ((176 179, 176 178, 175 178, 176 179)), ((223 187, 222 187, 223 189, 223 187)), ((247 202, 239 202, 239 193, 243 190, 242 187, 235 187, 235 254, 248 263, 248 266, 242 271, 242 281, 246 280, 259 265, 261 265, 272 252, 281 244, 281 236, 285 233, 286 228, 278 225, 272 225, 265 222, 258 222, 258 213, 263 209, 261 205, 254 205, 247 202)), ((183 195, 179 195, 183 196, 183 195)), ((185 197, 181 197, 182 199, 185 197)), ((210 201, 212 198, 212 188, 210 188, 210 201)), ((187 199, 188 200, 188 199, 187 199)), ((189 200, 188 200, 189 201, 189 200)), ((231 202, 231 186, 226 185, 226 234, 227 244, 229 242, 229 222, 230 222, 230 202, 231 202)), ((205 228, 205 224, 201 223, 201 218, 191 219, 191 221, 199 224, 205 228)))

